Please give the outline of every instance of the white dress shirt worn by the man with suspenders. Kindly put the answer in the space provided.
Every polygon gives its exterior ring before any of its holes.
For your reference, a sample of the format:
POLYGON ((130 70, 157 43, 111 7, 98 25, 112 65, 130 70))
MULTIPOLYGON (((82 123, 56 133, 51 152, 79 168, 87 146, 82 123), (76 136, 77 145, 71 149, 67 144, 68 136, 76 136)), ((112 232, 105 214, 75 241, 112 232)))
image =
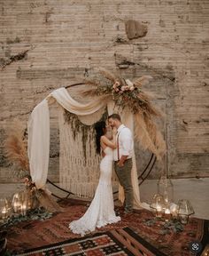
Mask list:
MULTIPOLYGON (((118 140, 119 157, 128 156, 128 158, 131 158, 134 150, 134 140, 132 138, 132 133, 130 129, 128 129, 128 127, 126 127, 124 124, 120 124, 118 128, 118 133, 116 134, 116 141, 118 140)), ((118 148, 115 148, 113 150, 113 158, 114 161, 118 161, 118 148)))

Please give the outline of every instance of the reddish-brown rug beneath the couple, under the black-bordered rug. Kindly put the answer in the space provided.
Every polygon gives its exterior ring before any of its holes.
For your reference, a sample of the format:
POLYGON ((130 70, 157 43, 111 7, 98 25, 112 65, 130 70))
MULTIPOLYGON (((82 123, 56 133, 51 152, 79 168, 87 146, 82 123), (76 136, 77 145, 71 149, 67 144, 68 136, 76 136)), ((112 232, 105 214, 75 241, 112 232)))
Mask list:
MULTIPOLYGON (((49 220, 31 220, 7 228, 8 249, 19 254, 31 248, 81 237, 70 232, 68 225, 69 222, 77 220, 83 215, 87 209, 86 203, 77 201, 74 204, 74 201, 69 200, 63 205, 65 205, 66 211, 56 214, 49 220)), ((168 256, 190 256, 190 242, 202 241, 202 244, 205 244, 205 237, 208 237, 207 220, 191 218, 190 223, 184 226, 182 232, 174 233, 173 230, 169 230, 168 233, 163 234, 161 232, 164 224, 162 220, 158 220, 152 226, 146 224, 147 220, 154 218, 152 212, 140 210, 130 216, 123 216, 122 209, 119 208, 118 211, 121 216, 120 222, 98 228, 93 234, 129 227, 143 241, 168 256)))

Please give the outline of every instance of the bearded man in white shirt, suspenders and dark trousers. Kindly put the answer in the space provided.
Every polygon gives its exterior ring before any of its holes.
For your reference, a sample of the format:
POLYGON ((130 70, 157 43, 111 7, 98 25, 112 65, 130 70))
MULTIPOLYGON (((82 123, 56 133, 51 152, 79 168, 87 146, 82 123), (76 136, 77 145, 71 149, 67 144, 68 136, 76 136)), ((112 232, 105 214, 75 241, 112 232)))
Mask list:
POLYGON ((114 169, 118 175, 120 185, 125 192, 125 213, 133 211, 133 187, 131 182, 132 155, 134 141, 132 133, 121 123, 120 115, 112 114, 108 116, 108 123, 112 128, 117 128, 116 134, 117 148, 113 151, 114 169))

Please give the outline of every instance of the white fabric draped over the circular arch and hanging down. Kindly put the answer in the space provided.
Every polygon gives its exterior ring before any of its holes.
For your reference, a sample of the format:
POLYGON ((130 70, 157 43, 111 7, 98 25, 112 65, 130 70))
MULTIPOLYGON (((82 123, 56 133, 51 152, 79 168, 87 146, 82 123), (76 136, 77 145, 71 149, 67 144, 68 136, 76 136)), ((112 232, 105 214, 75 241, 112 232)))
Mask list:
MULTIPOLYGON (((57 100, 60 106, 77 116, 92 115, 105 106, 107 106, 108 115, 112 114, 113 109, 115 110, 114 102, 112 100, 108 100, 106 96, 100 96, 92 102, 81 104, 69 95, 66 88, 60 88, 51 92, 34 108, 27 124, 27 150, 32 180, 35 182, 36 188, 43 189, 47 180, 50 158, 50 113, 48 103, 51 99, 57 100)), ((123 123, 126 124, 132 132, 134 132, 133 115, 129 111, 123 111, 120 116, 122 117, 123 123)), ((140 202, 135 157, 132 170, 132 183, 134 188, 135 208, 147 208, 147 205, 140 202)), ((119 198, 120 201, 123 201, 124 199, 121 188, 119 198)))

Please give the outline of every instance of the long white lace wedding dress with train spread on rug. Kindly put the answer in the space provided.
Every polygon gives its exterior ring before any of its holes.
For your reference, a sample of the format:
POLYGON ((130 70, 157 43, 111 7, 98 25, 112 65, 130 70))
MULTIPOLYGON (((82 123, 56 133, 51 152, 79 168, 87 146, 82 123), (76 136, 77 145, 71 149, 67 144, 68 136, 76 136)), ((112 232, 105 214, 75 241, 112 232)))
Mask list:
POLYGON ((69 224, 69 228, 81 236, 106 224, 120 221, 120 217, 114 212, 112 196, 112 148, 106 147, 104 154, 100 163, 100 178, 94 199, 81 219, 69 224))

